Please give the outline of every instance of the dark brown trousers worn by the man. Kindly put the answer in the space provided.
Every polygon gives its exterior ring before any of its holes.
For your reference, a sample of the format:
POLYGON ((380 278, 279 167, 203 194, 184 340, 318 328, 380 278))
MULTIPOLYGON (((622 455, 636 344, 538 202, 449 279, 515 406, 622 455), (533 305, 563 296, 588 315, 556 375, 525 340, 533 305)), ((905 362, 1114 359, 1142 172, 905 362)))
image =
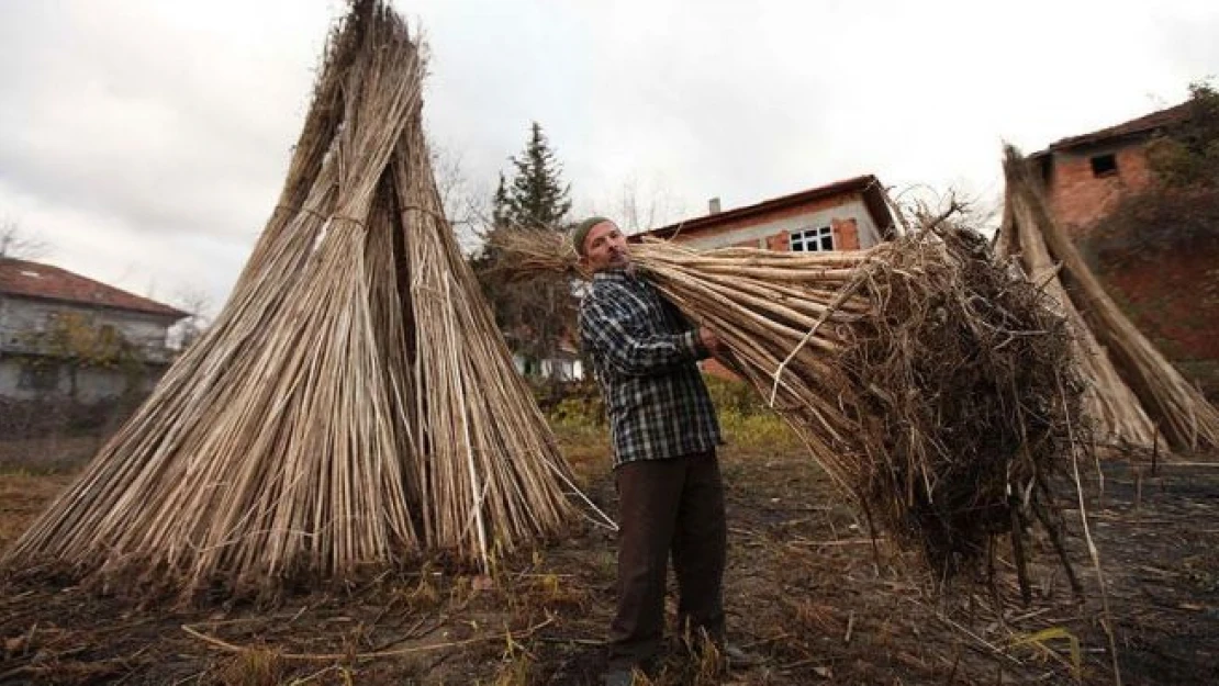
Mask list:
POLYGON ((616 470, 620 502, 618 612, 610 625, 610 665, 656 658, 664 637, 669 554, 678 580, 678 626, 724 636, 728 548, 724 486, 716 452, 628 462, 616 470))

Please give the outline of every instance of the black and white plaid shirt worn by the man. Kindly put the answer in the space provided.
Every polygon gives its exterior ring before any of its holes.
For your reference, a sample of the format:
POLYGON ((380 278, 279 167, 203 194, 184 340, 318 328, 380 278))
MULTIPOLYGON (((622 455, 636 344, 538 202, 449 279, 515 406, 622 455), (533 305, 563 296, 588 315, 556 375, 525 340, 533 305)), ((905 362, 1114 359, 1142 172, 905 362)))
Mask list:
POLYGON ((600 272, 580 301, 580 341, 606 398, 614 467, 720 442, 698 331, 644 279, 600 272))

